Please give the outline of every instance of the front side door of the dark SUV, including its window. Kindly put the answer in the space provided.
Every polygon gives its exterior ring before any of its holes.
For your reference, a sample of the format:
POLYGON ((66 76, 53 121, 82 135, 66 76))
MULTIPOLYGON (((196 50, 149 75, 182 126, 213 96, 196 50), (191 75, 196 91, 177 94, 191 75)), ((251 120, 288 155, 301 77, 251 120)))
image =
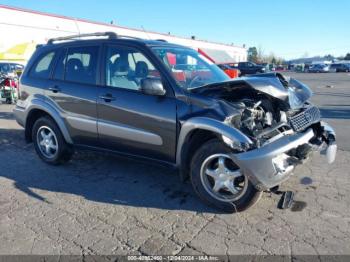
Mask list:
POLYGON ((140 50, 106 46, 105 85, 98 92, 98 134, 103 147, 173 162, 176 146, 176 100, 163 81, 165 96, 140 91, 141 80, 160 77, 140 50))

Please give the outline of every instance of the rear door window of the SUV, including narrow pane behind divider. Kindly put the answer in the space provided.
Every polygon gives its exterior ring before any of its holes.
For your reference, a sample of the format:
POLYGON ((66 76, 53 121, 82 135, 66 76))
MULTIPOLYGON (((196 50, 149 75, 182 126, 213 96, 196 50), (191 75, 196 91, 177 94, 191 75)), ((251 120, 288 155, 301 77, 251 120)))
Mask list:
POLYGON ((69 48, 67 55, 60 58, 54 73, 54 78, 62 78, 64 68, 64 79, 66 81, 96 84, 98 47, 74 47, 69 48))

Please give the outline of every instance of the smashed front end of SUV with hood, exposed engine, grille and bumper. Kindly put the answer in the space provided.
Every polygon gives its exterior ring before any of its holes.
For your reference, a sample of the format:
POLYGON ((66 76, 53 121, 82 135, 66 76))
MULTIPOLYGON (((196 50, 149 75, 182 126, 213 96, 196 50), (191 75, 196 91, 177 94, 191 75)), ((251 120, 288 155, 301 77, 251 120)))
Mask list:
POLYGON ((308 102, 311 90, 295 79, 259 74, 193 91, 224 100, 239 112, 226 117, 225 123, 240 130, 252 144, 239 148, 222 138, 233 150, 232 160, 258 190, 281 184, 313 151, 325 154, 328 163, 335 160, 335 132, 308 102))

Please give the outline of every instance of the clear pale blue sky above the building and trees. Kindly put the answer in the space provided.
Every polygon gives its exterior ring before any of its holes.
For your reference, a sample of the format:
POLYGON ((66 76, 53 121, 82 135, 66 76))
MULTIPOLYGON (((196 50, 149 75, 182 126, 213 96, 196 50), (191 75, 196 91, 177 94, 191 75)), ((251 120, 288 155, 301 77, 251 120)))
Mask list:
POLYGON ((256 46, 264 55, 285 59, 350 52, 348 0, 0 0, 0 4, 256 46))

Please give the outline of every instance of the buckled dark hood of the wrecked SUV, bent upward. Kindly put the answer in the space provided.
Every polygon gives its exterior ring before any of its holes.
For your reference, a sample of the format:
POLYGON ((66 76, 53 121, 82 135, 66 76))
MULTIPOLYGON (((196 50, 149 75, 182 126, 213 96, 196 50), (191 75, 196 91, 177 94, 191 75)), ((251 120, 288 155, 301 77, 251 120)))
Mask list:
POLYGON ((213 83, 192 88, 189 91, 207 96, 220 96, 233 90, 252 88, 289 104, 291 108, 301 107, 311 96, 312 91, 305 84, 280 73, 257 74, 240 77, 225 82, 213 83))

